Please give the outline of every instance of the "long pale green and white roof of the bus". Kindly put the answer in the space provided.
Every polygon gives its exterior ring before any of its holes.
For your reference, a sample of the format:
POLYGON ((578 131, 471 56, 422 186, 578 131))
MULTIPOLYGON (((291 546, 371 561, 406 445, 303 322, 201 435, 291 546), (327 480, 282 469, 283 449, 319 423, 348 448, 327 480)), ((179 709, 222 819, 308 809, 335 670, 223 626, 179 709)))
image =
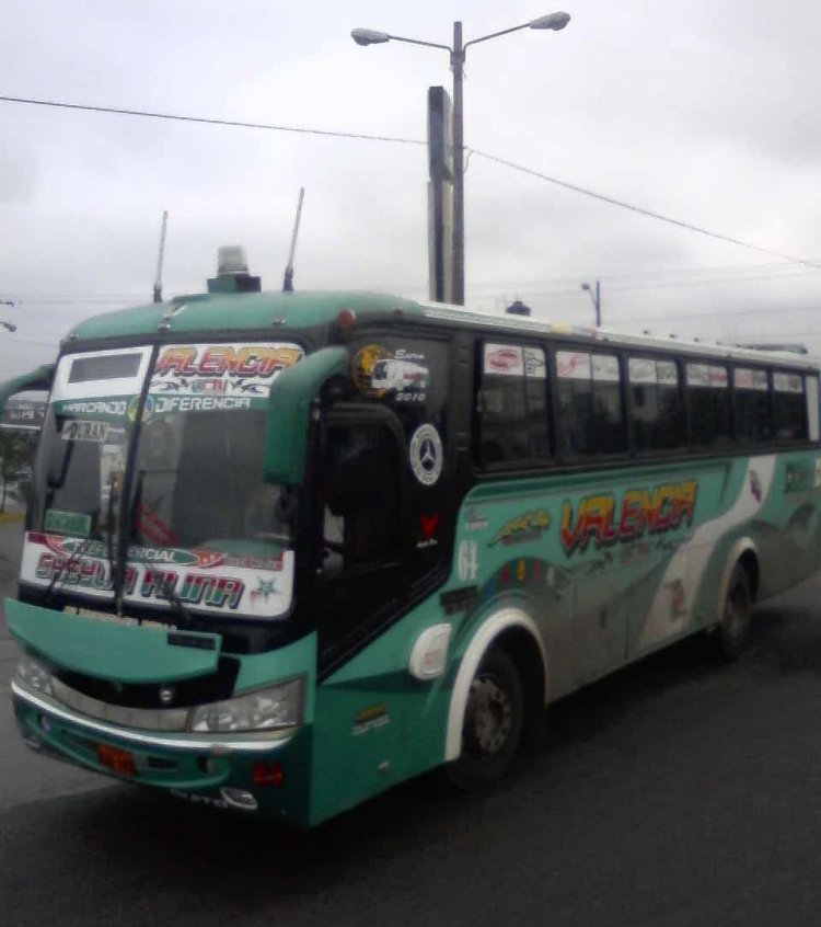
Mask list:
POLYGON ((102 316, 77 324, 67 341, 76 347, 83 341, 114 337, 139 337, 159 331, 240 332, 277 328, 299 330, 332 324, 343 309, 351 309, 359 320, 385 319, 389 316, 438 321, 470 329, 498 329, 512 333, 557 335, 593 343, 645 350, 673 351, 713 358, 748 359, 777 363, 802 369, 817 369, 818 364, 787 348, 777 351, 753 346, 735 346, 677 337, 654 337, 625 334, 606 329, 539 321, 523 316, 498 314, 465 309, 441 302, 421 302, 384 293, 297 291, 251 294, 195 294, 176 297, 171 302, 149 302, 102 316))

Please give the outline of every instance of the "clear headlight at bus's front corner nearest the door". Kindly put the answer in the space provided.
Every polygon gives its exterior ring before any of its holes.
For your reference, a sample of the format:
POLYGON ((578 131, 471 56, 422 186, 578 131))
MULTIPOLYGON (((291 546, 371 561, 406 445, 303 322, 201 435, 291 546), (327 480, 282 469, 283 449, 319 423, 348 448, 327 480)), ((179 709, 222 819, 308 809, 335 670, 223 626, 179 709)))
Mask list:
POLYGON ((303 680, 291 679, 244 696, 200 705, 192 710, 192 731, 232 733, 275 731, 291 728, 302 720, 303 680))

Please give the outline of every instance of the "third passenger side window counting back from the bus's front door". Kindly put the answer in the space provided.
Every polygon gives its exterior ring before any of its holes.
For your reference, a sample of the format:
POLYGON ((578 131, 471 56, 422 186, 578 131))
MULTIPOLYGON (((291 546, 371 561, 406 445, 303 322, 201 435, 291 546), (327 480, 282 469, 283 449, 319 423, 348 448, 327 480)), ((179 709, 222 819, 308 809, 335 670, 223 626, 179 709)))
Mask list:
POLYGON ((674 360, 631 357, 633 440, 637 450, 667 450, 686 443, 684 403, 674 360))

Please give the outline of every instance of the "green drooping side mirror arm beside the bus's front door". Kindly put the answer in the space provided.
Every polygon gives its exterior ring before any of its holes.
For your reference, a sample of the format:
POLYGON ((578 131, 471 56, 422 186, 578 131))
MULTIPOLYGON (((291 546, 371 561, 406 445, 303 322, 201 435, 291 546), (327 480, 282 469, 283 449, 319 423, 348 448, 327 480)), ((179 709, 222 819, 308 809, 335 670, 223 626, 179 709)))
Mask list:
POLYGON ((345 374, 348 364, 346 347, 323 347, 282 370, 274 380, 263 445, 265 482, 302 485, 312 403, 322 385, 331 377, 345 374))

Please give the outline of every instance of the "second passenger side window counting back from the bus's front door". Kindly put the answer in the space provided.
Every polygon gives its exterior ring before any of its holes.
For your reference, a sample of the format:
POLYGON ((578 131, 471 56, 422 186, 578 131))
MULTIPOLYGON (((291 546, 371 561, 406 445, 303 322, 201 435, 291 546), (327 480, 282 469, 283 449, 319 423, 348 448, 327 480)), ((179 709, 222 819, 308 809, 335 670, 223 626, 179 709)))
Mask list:
POLYGON ((625 450, 618 357, 557 351, 556 376, 559 427, 568 453, 578 456, 625 450))

